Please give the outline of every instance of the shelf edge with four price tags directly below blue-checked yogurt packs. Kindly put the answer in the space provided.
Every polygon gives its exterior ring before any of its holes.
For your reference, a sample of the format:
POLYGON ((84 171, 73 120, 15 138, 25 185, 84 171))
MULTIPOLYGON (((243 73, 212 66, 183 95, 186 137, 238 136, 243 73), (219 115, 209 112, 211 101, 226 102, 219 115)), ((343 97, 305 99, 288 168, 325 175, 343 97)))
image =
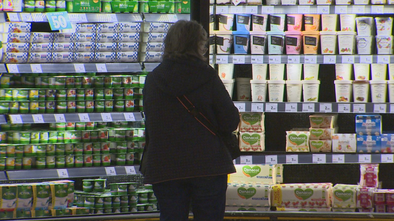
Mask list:
MULTIPOLYGON (((6 64, 9 73, 141 72, 139 63, 6 64), (33 65, 33 68, 32 68, 33 65)), ((1 72, 1 65, 0 65, 1 72)))

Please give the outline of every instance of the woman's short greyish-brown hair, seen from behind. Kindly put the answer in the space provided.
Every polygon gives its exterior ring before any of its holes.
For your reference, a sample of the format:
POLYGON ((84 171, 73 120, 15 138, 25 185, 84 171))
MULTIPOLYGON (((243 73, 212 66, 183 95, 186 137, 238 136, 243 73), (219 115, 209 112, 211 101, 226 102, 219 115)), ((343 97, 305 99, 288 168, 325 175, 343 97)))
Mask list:
POLYGON ((196 21, 180 20, 173 24, 164 39, 163 58, 185 58, 189 56, 206 60, 206 43, 208 37, 205 29, 196 21))

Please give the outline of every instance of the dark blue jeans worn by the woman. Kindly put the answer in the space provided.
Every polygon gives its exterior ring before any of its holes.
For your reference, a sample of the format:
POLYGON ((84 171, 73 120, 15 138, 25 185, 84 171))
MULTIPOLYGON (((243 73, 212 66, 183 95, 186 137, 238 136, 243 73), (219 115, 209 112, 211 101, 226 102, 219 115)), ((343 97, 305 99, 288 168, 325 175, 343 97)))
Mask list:
POLYGON ((193 177, 153 184, 160 221, 188 220, 189 206, 195 221, 222 221, 226 204, 227 175, 193 177))

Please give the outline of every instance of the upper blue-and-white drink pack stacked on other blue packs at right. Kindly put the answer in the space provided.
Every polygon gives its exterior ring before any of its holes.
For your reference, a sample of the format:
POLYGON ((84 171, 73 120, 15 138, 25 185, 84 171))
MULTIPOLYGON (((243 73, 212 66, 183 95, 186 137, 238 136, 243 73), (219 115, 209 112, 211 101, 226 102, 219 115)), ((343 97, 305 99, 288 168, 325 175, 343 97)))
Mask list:
POLYGON ((379 135, 382 133, 382 116, 356 115, 356 133, 359 135, 379 135))

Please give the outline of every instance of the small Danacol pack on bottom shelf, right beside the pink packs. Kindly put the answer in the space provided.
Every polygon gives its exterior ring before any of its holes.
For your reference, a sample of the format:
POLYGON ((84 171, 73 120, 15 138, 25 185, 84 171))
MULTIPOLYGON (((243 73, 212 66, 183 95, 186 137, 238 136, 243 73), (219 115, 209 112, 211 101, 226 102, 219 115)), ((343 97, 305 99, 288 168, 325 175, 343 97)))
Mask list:
POLYGON ((333 208, 356 208, 358 185, 336 184, 333 187, 333 208))

